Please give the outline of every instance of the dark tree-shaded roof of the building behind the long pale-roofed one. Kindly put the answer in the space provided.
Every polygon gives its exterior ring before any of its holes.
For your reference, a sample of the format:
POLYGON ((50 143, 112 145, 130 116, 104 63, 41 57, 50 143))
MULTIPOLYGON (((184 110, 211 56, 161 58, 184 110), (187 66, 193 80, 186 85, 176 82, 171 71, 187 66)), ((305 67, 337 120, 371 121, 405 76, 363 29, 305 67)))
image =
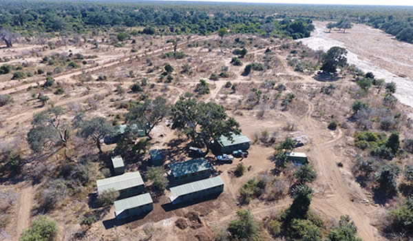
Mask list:
POLYGON ((183 163, 172 163, 169 164, 169 168, 171 169, 174 177, 212 169, 211 165, 204 158, 187 160, 183 163))

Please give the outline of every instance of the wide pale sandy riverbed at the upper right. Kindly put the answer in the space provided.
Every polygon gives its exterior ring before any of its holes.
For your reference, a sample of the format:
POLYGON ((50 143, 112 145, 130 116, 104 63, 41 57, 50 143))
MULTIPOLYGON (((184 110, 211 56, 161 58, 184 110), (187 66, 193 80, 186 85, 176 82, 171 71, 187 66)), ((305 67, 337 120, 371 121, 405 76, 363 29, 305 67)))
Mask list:
MULTIPOLYGON (((327 51, 333 46, 348 50, 348 62, 364 72, 372 72, 377 78, 397 84, 395 96, 401 103, 413 106, 413 45, 394 39, 381 30, 362 24, 343 33, 328 33, 327 22, 315 22, 310 38, 299 41, 313 50, 327 51)), ((412 116, 413 114, 410 114, 412 116)))

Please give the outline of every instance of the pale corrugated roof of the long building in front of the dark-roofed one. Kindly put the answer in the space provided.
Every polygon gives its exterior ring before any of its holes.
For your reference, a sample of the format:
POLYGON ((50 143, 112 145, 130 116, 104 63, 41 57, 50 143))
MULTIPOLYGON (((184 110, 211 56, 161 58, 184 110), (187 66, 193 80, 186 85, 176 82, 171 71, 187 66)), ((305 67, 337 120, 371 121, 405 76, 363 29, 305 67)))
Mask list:
POLYGON ((214 178, 208 178, 199 180, 196 182, 189 182, 184 185, 171 187, 171 193, 174 198, 185 195, 187 193, 193 193, 195 191, 202 191, 204 189, 209 189, 211 187, 218 187, 224 185, 220 176, 215 176, 214 178))

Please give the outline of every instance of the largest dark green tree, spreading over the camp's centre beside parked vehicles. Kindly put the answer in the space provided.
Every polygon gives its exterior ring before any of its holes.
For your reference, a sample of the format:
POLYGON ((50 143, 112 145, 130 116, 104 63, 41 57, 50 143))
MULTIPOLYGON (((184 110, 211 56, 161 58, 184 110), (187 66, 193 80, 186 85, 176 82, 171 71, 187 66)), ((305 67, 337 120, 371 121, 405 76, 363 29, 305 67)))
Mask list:
POLYGON ((240 134, 240 124, 225 113, 222 105, 198 102, 191 94, 180 96, 171 109, 172 129, 184 132, 193 143, 209 147, 211 140, 240 134))

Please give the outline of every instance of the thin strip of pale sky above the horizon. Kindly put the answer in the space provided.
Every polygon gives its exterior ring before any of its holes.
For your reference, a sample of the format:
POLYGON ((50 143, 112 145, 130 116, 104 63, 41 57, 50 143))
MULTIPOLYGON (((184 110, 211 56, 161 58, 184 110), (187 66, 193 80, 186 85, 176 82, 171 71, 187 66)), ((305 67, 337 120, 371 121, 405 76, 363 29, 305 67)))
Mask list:
POLYGON ((390 0, 180 0, 180 1, 234 1, 234 2, 246 2, 246 3, 306 3, 306 4, 413 6, 413 0, 392 0, 392 1, 390 0))

